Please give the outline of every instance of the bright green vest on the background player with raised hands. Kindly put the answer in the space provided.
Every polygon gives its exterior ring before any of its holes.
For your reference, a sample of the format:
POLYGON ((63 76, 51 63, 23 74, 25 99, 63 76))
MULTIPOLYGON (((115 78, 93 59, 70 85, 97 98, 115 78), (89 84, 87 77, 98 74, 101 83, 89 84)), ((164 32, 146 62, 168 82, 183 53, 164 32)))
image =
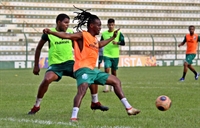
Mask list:
MULTIPOLYGON (((107 40, 113 36, 113 32, 108 32, 108 30, 102 33, 103 39, 107 40)), ((115 42, 119 42, 120 32, 117 33, 117 37, 114 39, 115 42)), ((110 57, 110 58, 119 58, 119 45, 114 45, 109 42, 103 49, 103 56, 110 57)))

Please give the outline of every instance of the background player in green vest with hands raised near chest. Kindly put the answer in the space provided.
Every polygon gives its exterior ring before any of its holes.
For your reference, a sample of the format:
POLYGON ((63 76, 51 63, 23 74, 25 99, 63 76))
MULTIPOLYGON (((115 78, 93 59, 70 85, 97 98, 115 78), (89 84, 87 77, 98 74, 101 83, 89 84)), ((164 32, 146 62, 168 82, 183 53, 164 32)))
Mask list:
MULTIPOLYGON (((115 30, 115 20, 114 19, 108 19, 108 30, 104 31, 101 36, 101 40, 109 39, 115 30)), ((111 74, 114 76, 117 76, 117 69, 118 69, 118 62, 119 62, 119 46, 125 45, 124 36, 119 31, 117 34, 117 37, 111 41, 109 44, 104 46, 103 50, 103 60, 104 60, 104 69, 106 73, 110 72, 111 68, 111 74)), ((109 92, 113 91, 112 86, 110 86, 110 90, 108 88, 108 85, 105 85, 105 89, 103 92, 109 92)))

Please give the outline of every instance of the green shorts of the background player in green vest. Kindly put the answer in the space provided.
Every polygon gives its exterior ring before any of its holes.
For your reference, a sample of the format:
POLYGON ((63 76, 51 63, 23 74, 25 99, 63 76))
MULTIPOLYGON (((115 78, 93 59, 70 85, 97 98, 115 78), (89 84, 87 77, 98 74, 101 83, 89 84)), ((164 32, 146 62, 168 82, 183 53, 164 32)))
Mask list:
POLYGON ((119 58, 103 57, 104 68, 112 68, 114 70, 118 69, 119 58))

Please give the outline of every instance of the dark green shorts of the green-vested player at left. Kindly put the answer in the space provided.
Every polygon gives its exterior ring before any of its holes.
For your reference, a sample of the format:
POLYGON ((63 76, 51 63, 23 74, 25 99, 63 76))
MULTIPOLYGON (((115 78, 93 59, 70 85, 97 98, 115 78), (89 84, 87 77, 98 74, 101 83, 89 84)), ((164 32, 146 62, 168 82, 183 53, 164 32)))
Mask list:
POLYGON ((70 76, 70 77, 74 78, 73 66, 74 66, 74 61, 68 60, 61 64, 50 65, 46 72, 52 71, 56 75, 58 75, 58 79, 56 81, 59 81, 62 78, 62 76, 70 76))

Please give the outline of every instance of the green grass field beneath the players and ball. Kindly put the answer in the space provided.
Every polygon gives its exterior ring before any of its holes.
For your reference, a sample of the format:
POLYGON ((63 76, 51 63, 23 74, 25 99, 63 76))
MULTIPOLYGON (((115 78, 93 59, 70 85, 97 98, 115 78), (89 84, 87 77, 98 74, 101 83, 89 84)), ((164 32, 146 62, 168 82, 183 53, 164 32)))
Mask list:
MULTIPOLYGON (((200 71, 200 67, 195 67, 200 71)), ((89 90, 79 110, 79 122, 69 123, 76 81, 63 77, 53 82, 36 115, 27 115, 35 102, 39 76, 32 69, 0 70, 0 128, 199 128, 200 79, 188 71, 186 80, 179 82, 183 67, 119 68, 118 77, 129 102, 141 110, 128 116, 121 101, 113 92, 103 93, 99 86, 99 100, 110 108, 107 112, 92 111, 89 90), (168 111, 155 107, 155 99, 167 95, 172 100, 168 111)))

